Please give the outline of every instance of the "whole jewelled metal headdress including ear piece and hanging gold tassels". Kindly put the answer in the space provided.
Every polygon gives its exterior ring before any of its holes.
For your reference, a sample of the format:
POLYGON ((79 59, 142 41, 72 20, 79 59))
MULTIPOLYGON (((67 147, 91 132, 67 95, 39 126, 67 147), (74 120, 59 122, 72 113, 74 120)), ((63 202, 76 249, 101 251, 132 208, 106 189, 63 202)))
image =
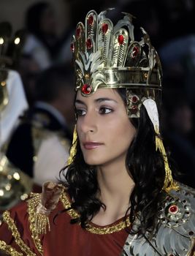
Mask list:
MULTIPOLYGON (((123 12, 123 17, 114 25, 107 15, 112 9, 88 12, 85 26, 78 23, 72 38, 76 91, 89 97, 99 88, 125 88, 126 109, 129 118, 139 118, 141 105, 145 105, 148 116, 156 131, 156 150, 164 157, 166 177, 164 189, 174 187, 167 154, 159 135, 158 110, 156 102, 161 97, 161 63, 158 53, 150 43, 150 37, 139 29, 141 37, 135 39, 134 16, 123 12)), ((75 154, 71 148, 69 163, 75 154)))

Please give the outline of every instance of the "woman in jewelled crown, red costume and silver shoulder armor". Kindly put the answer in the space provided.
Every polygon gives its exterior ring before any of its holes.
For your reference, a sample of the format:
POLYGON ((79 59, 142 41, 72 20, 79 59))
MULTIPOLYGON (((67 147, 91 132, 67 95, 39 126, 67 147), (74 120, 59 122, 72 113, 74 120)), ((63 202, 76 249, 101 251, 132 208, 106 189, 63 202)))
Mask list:
POLYGON ((158 55, 131 15, 113 25, 110 13, 77 25, 66 183, 4 213, 9 255, 194 255, 194 191, 173 181, 159 134, 158 55))

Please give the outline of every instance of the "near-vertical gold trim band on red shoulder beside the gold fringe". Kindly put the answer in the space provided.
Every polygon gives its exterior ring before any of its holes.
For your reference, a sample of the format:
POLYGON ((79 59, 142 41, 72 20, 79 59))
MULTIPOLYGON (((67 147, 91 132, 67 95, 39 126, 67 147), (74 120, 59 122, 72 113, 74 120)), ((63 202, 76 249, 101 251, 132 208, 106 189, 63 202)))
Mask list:
POLYGON ((41 195, 31 193, 31 199, 28 200, 28 214, 29 214, 30 230, 31 230, 32 238, 34 240, 34 244, 37 250, 42 255, 43 249, 42 249, 41 240, 39 238, 39 232, 37 230, 36 211, 35 211, 35 209, 40 203, 40 200, 41 200, 41 195))

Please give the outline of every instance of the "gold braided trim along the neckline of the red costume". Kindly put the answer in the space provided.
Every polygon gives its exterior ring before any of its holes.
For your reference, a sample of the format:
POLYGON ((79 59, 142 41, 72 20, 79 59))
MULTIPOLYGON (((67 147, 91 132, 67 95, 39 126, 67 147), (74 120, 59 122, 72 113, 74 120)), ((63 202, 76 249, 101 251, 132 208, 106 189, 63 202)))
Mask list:
MULTIPOLYGON (((65 193, 61 195, 61 202, 64 205, 65 209, 68 209, 71 207, 71 203, 69 202, 68 197, 66 196, 65 193)), ((67 211, 67 213, 72 217, 72 219, 76 219, 80 215, 77 214, 74 209, 70 209, 67 211)), ((90 223, 88 223, 88 227, 86 227, 86 230, 93 234, 98 234, 98 235, 106 235, 106 234, 112 234, 118 231, 123 230, 125 227, 129 227, 131 225, 131 222, 129 221, 129 218, 126 219, 126 221, 121 221, 118 224, 108 226, 108 227, 93 227, 90 223)))

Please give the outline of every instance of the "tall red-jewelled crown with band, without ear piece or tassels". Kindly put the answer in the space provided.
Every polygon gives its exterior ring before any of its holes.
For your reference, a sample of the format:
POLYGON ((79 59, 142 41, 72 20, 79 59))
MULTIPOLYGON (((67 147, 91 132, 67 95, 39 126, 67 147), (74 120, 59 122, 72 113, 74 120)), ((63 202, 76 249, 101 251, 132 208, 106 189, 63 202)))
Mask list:
POLYGON ((85 26, 78 23, 72 38, 76 72, 76 90, 83 96, 98 88, 141 88, 161 90, 161 63, 150 44, 147 32, 135 41, 133 15, 123 12, 114 26, 106 17, 111 9, 99 15, 88 12, 85 26), (147 49, 146 49, 147 48, 147 49))

